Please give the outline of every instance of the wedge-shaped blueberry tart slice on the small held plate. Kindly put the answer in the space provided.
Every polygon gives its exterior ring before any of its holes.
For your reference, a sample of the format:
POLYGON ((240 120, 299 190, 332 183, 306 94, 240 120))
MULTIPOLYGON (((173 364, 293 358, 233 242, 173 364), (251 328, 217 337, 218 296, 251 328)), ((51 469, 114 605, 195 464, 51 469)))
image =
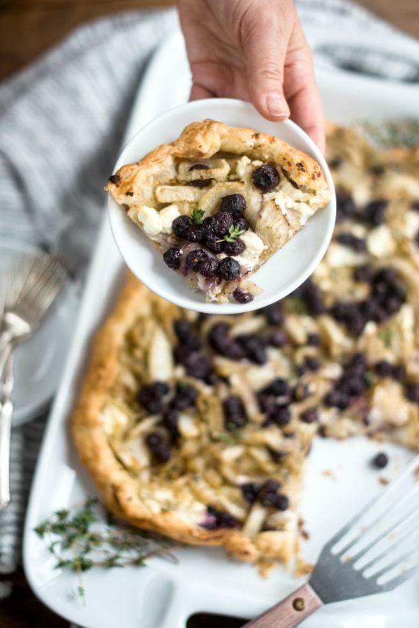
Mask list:
POLYGON ((321 167, 279 138, 206 119, 105 187, 207 301, 249 302, 249 277, 330 200, 321 167))

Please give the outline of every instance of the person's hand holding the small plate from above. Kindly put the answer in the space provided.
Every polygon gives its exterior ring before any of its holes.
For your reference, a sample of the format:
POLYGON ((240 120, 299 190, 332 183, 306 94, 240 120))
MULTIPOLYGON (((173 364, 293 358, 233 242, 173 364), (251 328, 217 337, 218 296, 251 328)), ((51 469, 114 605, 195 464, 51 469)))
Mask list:
POLYGON ((323 107, 293 0, 178 0, 191 100, 240 98, 263 117, 291 115, 324 152, 323 107))

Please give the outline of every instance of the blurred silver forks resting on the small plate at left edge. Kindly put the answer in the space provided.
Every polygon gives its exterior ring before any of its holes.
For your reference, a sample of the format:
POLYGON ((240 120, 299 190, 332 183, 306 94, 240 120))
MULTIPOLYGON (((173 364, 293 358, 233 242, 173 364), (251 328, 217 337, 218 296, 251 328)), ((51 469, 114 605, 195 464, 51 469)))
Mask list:
POLYGON ((44 251, 20 258, 3 278, 0 331, 0 511, 10 502, 13 350, 40 326, 66 278, 59 258, 44 251))

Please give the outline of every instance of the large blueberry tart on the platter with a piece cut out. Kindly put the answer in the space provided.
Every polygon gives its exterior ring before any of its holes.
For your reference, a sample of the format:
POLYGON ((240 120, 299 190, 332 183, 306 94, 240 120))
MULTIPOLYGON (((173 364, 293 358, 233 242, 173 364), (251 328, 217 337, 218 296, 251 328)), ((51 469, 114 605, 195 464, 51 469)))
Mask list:
POLYGON ((249 562, 289 562, 314 437, 419 448, 419 154, 330 125, 338 221, 312 277, 238 316, 128 275, 72 416, 113 513, 249 562))

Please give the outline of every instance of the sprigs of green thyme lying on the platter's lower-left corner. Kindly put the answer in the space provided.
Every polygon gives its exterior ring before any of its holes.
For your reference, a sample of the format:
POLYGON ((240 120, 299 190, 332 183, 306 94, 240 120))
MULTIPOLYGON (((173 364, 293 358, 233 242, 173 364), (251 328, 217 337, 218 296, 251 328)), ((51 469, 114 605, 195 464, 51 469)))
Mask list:
POLYGON ((79 577, 78 594, 85 601, 82 572, 92 567, 144 567, 153 556, 170 553, 175 543, 160 536, 117 523, 110 513, 98 513, 96 497, 87 497, 71 509, 61 509, 34 528, 46 539, 48 550, 56 558, 56 569, 71 569, 79 577))

